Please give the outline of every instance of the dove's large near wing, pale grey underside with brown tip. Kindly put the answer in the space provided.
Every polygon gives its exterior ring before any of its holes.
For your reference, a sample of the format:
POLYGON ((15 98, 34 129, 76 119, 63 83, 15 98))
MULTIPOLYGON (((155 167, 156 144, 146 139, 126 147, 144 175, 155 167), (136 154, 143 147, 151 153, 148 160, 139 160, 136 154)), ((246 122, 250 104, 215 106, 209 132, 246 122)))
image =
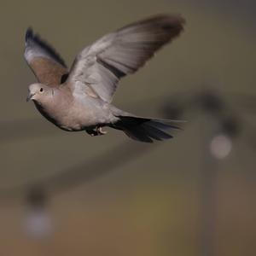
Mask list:
POLYGON ((135 73, 156 50, 176 38, 183 23, 179 15, 158 15, 109 33, 79 53, 68 86, 78 91, 84 86, 84 91, 111 102, 119 79, 135 73))

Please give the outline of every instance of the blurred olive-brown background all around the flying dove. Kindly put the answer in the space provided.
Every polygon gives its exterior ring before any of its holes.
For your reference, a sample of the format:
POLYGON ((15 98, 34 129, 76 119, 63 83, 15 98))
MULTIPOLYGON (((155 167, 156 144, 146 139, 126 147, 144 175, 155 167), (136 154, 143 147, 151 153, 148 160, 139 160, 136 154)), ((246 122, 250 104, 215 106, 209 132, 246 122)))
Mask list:
POLYGON ((256 254, 256 3, 0 3, 0 254, 256 254), (132 21, 180 13, 185 32, 119 85, 114 104, 186 119, 171 141, 68 133, 26 103, 32 26, 71 65, 132 21))

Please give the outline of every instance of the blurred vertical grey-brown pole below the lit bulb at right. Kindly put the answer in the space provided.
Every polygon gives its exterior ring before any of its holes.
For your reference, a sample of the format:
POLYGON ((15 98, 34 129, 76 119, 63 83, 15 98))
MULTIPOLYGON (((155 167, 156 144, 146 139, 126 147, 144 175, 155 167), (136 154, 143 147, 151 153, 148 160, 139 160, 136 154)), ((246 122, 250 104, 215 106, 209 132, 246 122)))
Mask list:
POLYGON ((217 175, 218 160, 213 156, 210 145, 218 134, 218 120, 206 115, 203 127, 202 167, 201 167, 201 255, 215 256, 217 241, 217 175))

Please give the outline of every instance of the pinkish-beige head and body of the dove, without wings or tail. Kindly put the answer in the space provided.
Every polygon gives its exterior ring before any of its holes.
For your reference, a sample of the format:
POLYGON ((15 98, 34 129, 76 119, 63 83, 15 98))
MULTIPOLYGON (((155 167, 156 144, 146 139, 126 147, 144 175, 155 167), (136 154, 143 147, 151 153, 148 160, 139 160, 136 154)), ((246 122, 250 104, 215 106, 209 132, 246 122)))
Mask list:
POLYGON ((65 86, 50 88, 44 84, 31 84, 28 99, 46 119, 65 131, 90 130, 118 120, 113 115, 113 110, 118 113, 118 109, 111 104, 92 97, 84 101, 83 96, 73 96, 65 86))

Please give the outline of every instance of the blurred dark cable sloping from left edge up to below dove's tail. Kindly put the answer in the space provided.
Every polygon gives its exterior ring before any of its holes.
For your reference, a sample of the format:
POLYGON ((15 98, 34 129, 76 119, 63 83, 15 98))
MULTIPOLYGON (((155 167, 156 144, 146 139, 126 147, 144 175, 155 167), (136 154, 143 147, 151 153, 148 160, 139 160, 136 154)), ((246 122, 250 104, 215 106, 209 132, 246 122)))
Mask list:
POLYGON ((136 160, 159 145, 135 143, 125 141, 118 146, 110 148, 108 152, 97 154, 91 159, 84 160, 77 166, 67 168, 49 178, 16 187, 0 188, 0 199, 6 200, 19 195, 29 194, 33 188, 40 188, 47 193, 56 193, 72 189, 75 186, 89 183, 96 178, 107 175, 109 172, 125 166, 126 163, 136 160))

